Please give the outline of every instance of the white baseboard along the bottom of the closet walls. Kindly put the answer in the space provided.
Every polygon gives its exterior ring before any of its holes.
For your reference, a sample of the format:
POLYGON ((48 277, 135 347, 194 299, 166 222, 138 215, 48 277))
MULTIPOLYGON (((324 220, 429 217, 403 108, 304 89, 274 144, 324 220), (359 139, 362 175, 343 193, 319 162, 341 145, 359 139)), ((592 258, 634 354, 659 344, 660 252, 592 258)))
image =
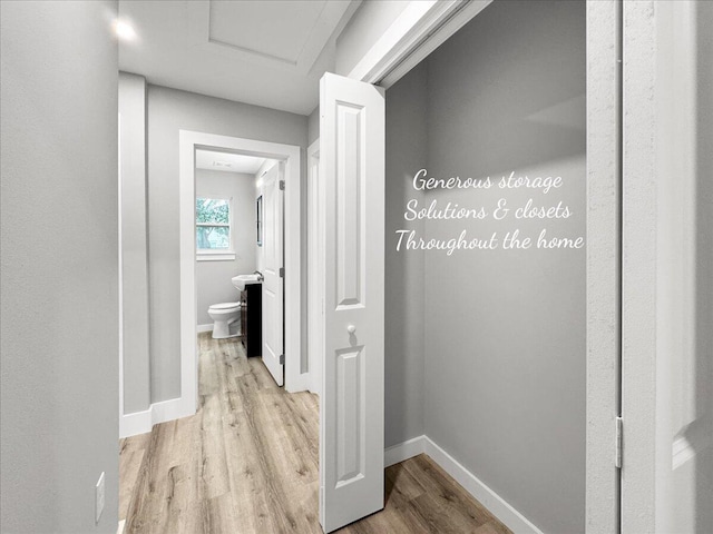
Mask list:
POLYGON ((384 467, 407 461, 421 453, 426 453, 430 456, 433 462, 440 465, 446 473, 452 476, 458 484, 463 486, 468 493, 470 493, 512 532, 518 534, 543 534, 537 526, 515 510, 515 507, 505 501, 505 498, 490 490, 476 475, 470 473, 456 458, 426 435, 413 437, 384 449, 384 467))

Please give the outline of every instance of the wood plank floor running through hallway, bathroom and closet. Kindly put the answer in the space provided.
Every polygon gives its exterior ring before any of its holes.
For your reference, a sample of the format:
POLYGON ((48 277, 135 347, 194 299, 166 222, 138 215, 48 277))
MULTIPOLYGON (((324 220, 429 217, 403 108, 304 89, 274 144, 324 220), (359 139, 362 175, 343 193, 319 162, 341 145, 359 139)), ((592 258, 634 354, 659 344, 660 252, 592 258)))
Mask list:
MULTIPOLYGON (((201 409, 120 443, 126 533, 321 533, 319 407, 240 342, 199 335, 201 409)), ((385 507, 341 534, 510 531, 428 456, 385 473, 385 507)))

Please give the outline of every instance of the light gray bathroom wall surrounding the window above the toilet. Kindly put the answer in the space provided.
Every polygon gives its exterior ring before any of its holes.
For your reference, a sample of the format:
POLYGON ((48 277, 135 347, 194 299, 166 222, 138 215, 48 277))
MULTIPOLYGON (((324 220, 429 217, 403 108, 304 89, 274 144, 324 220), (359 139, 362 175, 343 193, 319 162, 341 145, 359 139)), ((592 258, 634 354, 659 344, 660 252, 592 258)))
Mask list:
POLYGON ((235 303, 238 290, 231 283, 236 275, 256 269, 255 176, 196 169, 196 195, 233 198, 234 260, 196 261, 197 324, 213 324, 208 307, 235 303))

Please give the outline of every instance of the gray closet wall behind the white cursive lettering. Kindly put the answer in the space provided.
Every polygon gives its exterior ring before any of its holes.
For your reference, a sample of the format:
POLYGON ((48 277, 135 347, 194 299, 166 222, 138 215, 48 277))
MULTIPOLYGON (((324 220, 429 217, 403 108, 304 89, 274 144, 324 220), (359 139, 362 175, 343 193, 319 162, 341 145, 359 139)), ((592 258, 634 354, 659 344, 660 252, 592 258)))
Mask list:
MULTIPOLYGON (((422 325, 424 433, 545 532, 584 531, 585 249, 461 250, 450 257, 429 250, 420 270, 410 265, 418 264, 417 253, 394 255, 392 230, 409 228, 403 212, 411 198, 420 206, 436 200, 463 207, 491 207, 499 198, 517 207, 533 198, 546 206, 561 200, 573 216, 429 219, 411 228, 428 239, 457 237, 462 229, 470 237, 497 231, 502 238, 514 228, 521 237, 536 238, 543 228, 584 236, 585 67, 584 2, 495 2, 429 57, 426 99, 420 71, 387 95, 387 332, 395 342, 389 342, 387 360, 393 359, 387 365, 398 367, 388 368, 387 379, 408 368, 392 354, 418 339, 422 325), (406 83, 411 87, 400 95, 406 83), (491 188, 419 197, 409 178, 421 166, 441 178, 516 171, 561 176, 564 185, 548 195, 491 188), (408 297, 399 303, 399 295, 408 297), (417 309, 421 323, 413 318, 417 309), (403 328, 412 330, 401 339, 403 328)), ((413 347, 404 353, 411 350, 418 354, 413 347)), ((389 395, 397 397, 387 399, 391 412, 403 394, 389 395)), ((401 416, 394 411, 388 424, 398 427, 401 416)), ((392 432, 387 444, 399 434, 409 435, 392 432)))

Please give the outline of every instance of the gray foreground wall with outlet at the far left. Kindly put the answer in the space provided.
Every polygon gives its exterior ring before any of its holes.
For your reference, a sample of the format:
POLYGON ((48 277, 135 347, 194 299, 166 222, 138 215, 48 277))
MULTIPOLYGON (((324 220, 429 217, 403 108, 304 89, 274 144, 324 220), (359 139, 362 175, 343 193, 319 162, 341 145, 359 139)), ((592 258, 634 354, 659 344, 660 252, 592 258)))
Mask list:
POLYGON ((2 532, 116 532, 116 10, 0 2, 2 532))

